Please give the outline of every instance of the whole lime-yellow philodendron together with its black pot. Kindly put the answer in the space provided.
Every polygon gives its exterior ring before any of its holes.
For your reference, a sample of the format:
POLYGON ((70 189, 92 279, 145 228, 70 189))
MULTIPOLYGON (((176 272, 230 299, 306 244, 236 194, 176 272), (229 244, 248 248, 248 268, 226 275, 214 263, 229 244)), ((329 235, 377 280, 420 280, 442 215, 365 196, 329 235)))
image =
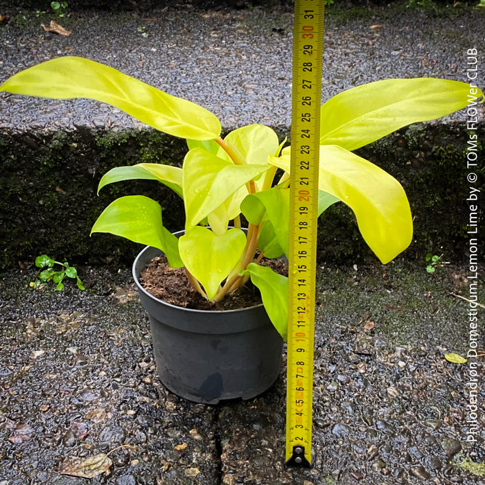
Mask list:
MULTIPOLYGON (((364 240, 382 263, 402 252, 412 240, 405 192, 394 177, 351 150, 410 123, 465 107, 469 89, 452 80, 389 79, 328 100, 321 107, 319 213, 342 201, 353 209, 364 240)), ((220 121, 203 107, 84 58, 38 64, 3 82, 0 91, 92 98, 187 140, 182 167, 116 167, 99 184, 99 189, 129 179, 165 184, 184 200, 182 233, 170 233, 159 204, 142 195, 112 202, 92 232, 114 233, 146 246, 134 263, 134 279, 150 314, 159 375, 169 389, 216 403, 249 398, 270 387, 286 335, 288 283, 261 263, 288 254, 290 151, 283 148, 285 141, 280 143, 270 127, 258 124, 222 138, 220 121), (246 228, 241 227, 241 215, 246 228), (161 253, 170 267, 184 268, 193 290, 204 299, 222 301, 250 279, 261 292, 264 309, 195 310, 164 303, 139 281, 143 268, 161 253)))

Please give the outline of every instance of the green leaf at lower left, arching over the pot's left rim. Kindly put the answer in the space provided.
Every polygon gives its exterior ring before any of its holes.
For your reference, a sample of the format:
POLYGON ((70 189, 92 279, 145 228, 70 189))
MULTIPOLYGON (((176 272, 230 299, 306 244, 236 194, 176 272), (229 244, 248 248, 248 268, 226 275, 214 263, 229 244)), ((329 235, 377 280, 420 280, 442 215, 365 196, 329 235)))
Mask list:
POLYGON ((144 195, 127 195, 109 204, 91 229, 109 232, 134 243, 157 247, 163 251, 172 267, 184 264, 179 256, 178 239, 161 222, 161 207, 144 195))

